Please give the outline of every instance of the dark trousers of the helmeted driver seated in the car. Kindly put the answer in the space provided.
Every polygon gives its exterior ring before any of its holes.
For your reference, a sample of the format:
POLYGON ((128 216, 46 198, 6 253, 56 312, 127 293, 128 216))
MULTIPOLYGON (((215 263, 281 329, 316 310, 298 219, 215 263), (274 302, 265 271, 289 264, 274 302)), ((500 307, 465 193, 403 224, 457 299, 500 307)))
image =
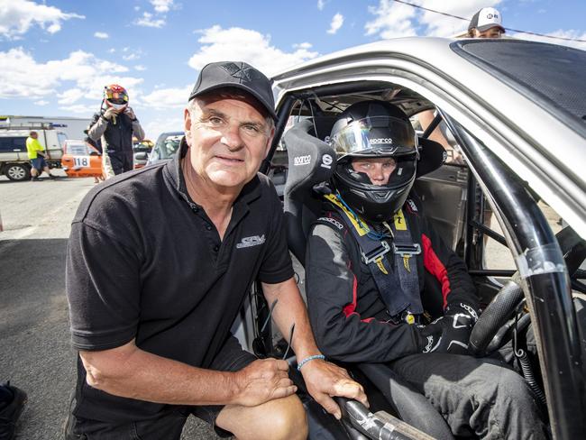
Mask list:
POLYGON ((426 353, 406 356, 390 367, 426 396, 454 435, 549 438, 533 391, 505 362, 426 353))

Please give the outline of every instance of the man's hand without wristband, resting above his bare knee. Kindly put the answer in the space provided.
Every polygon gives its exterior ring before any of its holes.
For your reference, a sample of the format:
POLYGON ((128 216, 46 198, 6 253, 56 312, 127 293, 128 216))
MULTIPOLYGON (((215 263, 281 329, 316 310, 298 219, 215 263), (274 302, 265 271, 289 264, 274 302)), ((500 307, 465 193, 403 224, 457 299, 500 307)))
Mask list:
POLYGON ((272 399, 286 398, 297 391, 288 378, 288 363, 277 359, 260 359, 236 371, 235 404, 256 407, 272 399))

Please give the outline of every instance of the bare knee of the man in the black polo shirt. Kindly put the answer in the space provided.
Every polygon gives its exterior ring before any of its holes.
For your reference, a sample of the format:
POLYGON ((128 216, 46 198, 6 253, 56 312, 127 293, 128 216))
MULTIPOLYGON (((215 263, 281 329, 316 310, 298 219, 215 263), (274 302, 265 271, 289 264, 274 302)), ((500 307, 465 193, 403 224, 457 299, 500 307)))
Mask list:
POLYGON ((233 433, 239 440, 307 438, 307 416, 297 396, 270 402, 253 408, 225 408, 217 418, 218 426, 233 433), (223 414, 224 413, 224 414, 223 414))

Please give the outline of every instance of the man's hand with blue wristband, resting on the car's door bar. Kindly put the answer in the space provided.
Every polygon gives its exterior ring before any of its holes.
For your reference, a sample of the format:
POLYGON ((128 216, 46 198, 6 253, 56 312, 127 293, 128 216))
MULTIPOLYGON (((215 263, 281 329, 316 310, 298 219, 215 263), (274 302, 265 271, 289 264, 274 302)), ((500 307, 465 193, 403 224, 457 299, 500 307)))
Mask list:
POLYGON ((358 400, 367 408, 369 407, 362 385, 334 363, 316 359, 307 362, 301 369, 301 373, 311 397, 338 420, 342 418, 342 410, 332 399, 334 396, 358 400))

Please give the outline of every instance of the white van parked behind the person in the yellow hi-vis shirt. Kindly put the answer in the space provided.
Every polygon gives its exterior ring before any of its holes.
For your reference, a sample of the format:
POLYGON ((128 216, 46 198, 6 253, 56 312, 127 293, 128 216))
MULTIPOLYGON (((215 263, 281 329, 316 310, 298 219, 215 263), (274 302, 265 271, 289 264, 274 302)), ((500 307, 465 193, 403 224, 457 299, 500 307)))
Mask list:
POLYGON ((47 151, 50 168, 60 168, 63 142, 67 135, 58 132, 49 124, 0 125, 0 174, 11 180, 31 178, 31 162, 26 151, 26 138, 35 131, 38 140, 47 151))

